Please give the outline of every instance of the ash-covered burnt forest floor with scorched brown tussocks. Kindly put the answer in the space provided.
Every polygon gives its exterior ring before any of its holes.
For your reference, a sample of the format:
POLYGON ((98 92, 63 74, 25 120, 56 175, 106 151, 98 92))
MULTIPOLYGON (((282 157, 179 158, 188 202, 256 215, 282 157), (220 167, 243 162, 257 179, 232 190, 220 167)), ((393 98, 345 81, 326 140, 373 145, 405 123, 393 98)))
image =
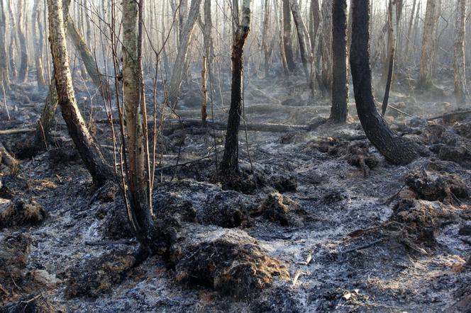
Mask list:
MULTIPOLYGON (((302 88, 263 81, 245 84, 245 106, 257 105, 248 122, 309 125, 328 116, 328 103, 307 101, 302 88)), ((429 150, 407 166, 389 164, 371 146, 354 103, 348 125, 240 132, 245 176, 222 184, 211 135, 220 159, 222 131, 165 134, 154 210, 189 243, 177 261, 153 256, 138 266, 118 189, 92 186, 57 115, 47 152, 23 159, 14 175, 0 165, 0 312, 469 310, 471 118, 426 120, 456 109, 445 102, 453 80, 443 81, 443 94, 429 98, 394 86, 392 106, 421 118, 390 110, 388 122, 429 150), (177 159, 192 162, 172 166, 177 159)), ((18 86, 0 129, 33 127, 44 98, 18 86)), ((106 144, 108 127, 95 127, 106 144)), ((0 142, 15 153, 28 137, 0 142)))

